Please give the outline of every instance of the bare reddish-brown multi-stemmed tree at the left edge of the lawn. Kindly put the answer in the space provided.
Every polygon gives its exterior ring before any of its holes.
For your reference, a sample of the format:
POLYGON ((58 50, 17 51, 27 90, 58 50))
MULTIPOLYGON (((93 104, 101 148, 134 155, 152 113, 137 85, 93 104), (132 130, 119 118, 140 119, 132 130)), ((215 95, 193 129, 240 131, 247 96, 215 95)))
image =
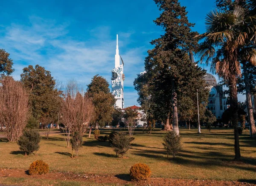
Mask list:
POLYGON ((26 127, 28 99, 29 95, 20 82, 9 76, 1 80, 0 127, 9 141, 17 141, 26 127))

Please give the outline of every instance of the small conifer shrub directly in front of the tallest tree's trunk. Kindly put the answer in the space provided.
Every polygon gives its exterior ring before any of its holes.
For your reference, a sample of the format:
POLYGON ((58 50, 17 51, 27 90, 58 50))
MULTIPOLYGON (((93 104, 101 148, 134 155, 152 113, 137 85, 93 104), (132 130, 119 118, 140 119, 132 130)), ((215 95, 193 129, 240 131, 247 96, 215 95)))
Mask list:
POLYGON ((167 150, 167 158, 169 154, 175 158, 177 152, 181 150, 180 136, 173 130, 167 132, 163 138, 163 147, 167 150))

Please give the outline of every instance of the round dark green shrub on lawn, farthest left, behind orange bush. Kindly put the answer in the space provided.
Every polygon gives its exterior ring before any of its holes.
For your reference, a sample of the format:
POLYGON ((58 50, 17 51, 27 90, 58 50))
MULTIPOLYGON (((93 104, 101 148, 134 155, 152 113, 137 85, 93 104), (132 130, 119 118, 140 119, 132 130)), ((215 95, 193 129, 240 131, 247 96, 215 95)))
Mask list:
POLYGON ((41 136, 37 130, 25 130, 23 135, 20 136, 17 144, 20 146, 20 150, 25 152, 25 155, 31 154, 39 149, 39 142, 41 136))

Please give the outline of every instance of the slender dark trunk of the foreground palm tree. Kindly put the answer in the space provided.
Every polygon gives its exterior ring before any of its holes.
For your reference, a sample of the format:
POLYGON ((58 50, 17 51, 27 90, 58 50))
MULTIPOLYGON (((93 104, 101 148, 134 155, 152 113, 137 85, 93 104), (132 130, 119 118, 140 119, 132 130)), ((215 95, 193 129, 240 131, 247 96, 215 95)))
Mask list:
POLYGON ((239 146, 239 131, 238 131, 238 99, 237 99, 237 87, 236 76, 231 76, 229 79, 229 92, 230 92, 230 110, 232 113, 232 124, 234 127, 235 138, 235 160, 240 160, 240 146, 239 146))

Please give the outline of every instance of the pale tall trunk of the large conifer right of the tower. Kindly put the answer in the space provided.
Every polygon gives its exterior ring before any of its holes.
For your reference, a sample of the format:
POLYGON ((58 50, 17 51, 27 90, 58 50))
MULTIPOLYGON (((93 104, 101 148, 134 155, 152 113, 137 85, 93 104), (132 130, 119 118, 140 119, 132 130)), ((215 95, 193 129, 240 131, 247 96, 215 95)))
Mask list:
POLYGON ((177 109, 177 93, 175 90, 175 82, 172 81, 172 115, 173 115, 173 130, 177 135, 180 135, 178 124, 178 109, 177 109))

